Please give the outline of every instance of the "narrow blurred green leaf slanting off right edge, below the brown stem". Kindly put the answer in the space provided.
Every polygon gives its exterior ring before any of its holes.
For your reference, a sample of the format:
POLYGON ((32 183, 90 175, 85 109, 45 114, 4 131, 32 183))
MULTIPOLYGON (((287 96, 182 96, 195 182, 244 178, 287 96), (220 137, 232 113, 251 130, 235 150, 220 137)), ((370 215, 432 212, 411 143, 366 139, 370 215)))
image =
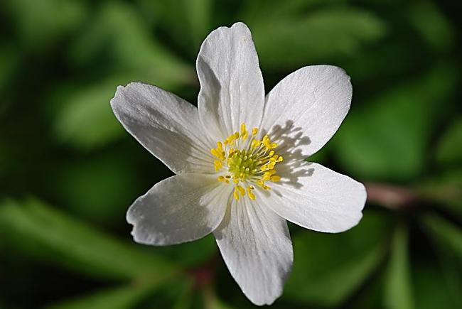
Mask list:
POLYGON ((425 227, 443 249, 451 250, 462 261, 462 230, 437 215, 426 215, 423 218, 425 227))

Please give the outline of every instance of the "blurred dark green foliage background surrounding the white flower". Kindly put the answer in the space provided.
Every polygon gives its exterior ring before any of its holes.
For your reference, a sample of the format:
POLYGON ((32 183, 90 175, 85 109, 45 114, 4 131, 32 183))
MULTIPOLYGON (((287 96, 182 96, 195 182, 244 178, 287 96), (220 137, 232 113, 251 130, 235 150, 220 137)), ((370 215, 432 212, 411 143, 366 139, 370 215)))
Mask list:
POLYGON ((462 308, 461 19, 456 1, 3 0, 0 308, 252 308, 213 237, 134 244, 131 202, 171 175, 122 129, 117 85, 196 104, 195 57, 245 21, 267 91, 304 65, 352 77, 313 161, 366 183, 343 234, 291 224, 274 308, 462 308))

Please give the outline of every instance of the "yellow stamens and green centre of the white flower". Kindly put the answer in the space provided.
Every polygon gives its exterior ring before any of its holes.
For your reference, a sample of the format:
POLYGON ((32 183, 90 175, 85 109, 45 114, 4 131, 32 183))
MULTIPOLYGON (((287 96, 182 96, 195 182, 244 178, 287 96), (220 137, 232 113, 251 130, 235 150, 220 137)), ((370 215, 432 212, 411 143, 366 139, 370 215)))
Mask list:
POLYGON ((277 143, 273 143, 269 136, 257 139, 258 129, 252 129, 249 136, 245 124, 241 124, 241 131, 228 136, 225 141, 217 141, 217 148, 210 149, 215 156, 215 170, 225 173, 218 176, 218 181, 234 183, 233 196, 236 200, 246 193, 251 200, 255 200, 252 190, 254 185, 263 190, 269 190, 267 181, 277 182, 281 178, 276 175, 276 164, 283 161, 282 156, 275 153, 277 143))

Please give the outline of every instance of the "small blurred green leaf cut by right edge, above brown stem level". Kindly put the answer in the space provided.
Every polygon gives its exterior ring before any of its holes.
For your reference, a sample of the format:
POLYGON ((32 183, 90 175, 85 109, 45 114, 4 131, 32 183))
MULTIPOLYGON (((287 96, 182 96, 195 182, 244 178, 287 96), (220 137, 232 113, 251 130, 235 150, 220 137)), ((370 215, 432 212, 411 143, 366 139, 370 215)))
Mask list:
POLYGON ((436 148, 436 161, 445 166, 462 163, 462 117, 448 126, 441 137, 436 148))

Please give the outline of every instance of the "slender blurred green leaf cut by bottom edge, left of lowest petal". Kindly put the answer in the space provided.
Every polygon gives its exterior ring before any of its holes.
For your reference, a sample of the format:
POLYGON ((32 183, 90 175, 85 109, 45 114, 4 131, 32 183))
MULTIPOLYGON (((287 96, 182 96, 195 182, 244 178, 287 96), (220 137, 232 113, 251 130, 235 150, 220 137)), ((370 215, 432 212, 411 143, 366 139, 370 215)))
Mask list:
POLYGON ((48 306, 48 309, 131 309, 151 291, 149 286, 110 288, 90 296, 48 306))

